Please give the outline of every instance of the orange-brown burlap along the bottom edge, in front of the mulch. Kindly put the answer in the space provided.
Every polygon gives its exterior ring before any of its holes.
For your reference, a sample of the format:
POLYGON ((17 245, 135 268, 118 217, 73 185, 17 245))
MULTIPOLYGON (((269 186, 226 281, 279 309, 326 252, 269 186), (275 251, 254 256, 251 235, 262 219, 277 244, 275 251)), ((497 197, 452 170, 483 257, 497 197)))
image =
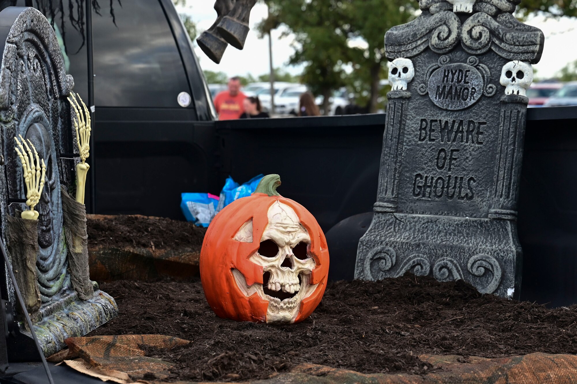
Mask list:
MULTIPOLYGON (((162 383, 171 364, 145 357, 149 347, 171 349, 189 341, 161 335, 72 337, 69 349, 48 357, 74 369, 118 383, 162 383), (77 358, 80 357, 80 358, 77 358), (76 360, 71 360, 76 359, 76 360), (145 380, 143 380, 145 379, 145 380), (142 381, 141 381, 142 380, 142 381)), ((154 353, 152 351, 152 353, 154 353)), ((485 357, 421 355, 433 369, 426 375, 362 374, 317 364, 300 364, 290 372, 254 384, 569 384, 577 383, 577 356, 531 353, 525 356, 485 357)), ((237 375, 238 376, 238 375, 237 375)), ((225 377, 230 380, 233 377, 225 377)), ((227 381, 228 381, 227 380, 227 381)), ((174 383, 174 382, 173 382, 174 383)), ((189 383, 189 382, 178 382, 189 383)), ((192 384, 192 382, 190 383, 192 384)))

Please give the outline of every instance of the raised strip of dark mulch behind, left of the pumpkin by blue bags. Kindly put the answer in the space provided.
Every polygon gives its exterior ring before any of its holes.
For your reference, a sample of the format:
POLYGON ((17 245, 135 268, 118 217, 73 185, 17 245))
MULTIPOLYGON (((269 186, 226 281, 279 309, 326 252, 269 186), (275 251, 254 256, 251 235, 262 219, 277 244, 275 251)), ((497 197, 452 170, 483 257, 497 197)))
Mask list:
POLYGON ((206 229, 162 217, 88 215, 87 231, 89 246, 189 249, 200 253, 206 229))

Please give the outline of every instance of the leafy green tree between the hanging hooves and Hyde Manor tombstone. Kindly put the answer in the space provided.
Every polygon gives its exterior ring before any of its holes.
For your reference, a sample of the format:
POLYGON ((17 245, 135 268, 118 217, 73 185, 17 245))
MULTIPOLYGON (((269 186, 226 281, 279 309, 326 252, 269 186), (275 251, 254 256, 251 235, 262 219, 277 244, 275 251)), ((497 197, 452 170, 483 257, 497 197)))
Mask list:
POLYGON ((305 64, 302 81, 324 97, 350 84, 369 84, 368 107, 376 110, 379 81, 385 73, 384 33, 414 17, 416 0, 270 0, 275 20, 295 34, 291 64, 305 64), (356 43, 356 44, 355 44, 356 43), (364 43, 364 44, 363 44, 364 43), (347 73, 353 67, 353 73, 347 73))

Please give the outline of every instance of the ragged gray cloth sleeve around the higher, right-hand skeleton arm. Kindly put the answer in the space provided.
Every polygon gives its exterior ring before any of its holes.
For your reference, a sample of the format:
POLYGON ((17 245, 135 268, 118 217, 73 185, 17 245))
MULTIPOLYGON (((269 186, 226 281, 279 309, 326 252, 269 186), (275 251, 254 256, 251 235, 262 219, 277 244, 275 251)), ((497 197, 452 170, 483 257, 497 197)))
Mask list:
POLYGON ((88 234, 86 232, 86 206, 80 204, 62 188, 62 214, 64 234, 68 245, 68 269, 72 287, 82 300, 92 298, 94 287, 88 267, 88 234))

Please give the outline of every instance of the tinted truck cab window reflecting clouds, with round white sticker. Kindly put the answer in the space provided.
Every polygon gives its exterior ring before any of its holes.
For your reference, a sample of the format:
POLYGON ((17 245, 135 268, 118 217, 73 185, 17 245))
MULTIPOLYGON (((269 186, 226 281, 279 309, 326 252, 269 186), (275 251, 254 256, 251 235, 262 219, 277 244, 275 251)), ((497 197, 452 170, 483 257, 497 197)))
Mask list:
POLYGON ((94 15, 94 98, 97 107, 175 107, 190 93, 182 60, 158 0, 100 2, 94 15))

